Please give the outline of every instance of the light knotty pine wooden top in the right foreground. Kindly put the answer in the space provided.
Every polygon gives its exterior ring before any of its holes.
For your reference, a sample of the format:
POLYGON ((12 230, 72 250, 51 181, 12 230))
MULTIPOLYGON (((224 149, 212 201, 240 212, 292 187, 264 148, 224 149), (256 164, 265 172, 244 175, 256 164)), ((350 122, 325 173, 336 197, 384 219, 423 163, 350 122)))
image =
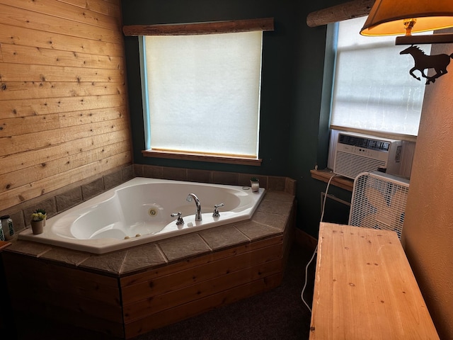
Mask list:
POLYGON ((321 222, 310 339, 439 339, 396 232, 321 222))

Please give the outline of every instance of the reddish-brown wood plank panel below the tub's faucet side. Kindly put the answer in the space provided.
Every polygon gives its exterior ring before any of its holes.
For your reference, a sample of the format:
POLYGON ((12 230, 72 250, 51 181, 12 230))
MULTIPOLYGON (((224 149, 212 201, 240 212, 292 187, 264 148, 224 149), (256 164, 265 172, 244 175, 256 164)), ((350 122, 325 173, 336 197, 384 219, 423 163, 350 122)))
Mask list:
POLYGON ((277 287, 282 246, 273 237, 122 278, 126 339, 277 287))

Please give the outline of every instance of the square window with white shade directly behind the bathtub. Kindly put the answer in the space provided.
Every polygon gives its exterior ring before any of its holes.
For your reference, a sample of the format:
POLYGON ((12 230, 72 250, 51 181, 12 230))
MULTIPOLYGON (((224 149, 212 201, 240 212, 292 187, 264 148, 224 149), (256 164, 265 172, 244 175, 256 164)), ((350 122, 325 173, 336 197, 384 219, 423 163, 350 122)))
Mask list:
POLYGON ((258 159, 262 38, 142 36, 147 149, 258 159))

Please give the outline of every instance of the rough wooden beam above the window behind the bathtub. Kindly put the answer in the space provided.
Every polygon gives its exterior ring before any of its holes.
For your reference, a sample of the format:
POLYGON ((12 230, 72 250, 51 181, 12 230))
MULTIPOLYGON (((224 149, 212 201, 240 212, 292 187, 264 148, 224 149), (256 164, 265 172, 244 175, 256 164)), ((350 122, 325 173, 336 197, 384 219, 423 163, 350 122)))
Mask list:
POLYGON ((274 18, 258 18, 207 23, 171 23, 159 25, 123 26, 126 36, 137 35, 199 35, 217 33, 251 32, 274 30, 274 18))

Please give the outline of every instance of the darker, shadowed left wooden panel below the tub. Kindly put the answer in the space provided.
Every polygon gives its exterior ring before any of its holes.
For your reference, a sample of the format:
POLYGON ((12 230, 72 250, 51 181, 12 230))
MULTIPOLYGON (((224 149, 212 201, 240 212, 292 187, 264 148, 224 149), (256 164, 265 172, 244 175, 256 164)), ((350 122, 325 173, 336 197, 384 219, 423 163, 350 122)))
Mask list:
POLYGON ((11 252, 2 256, 12 307, 19 314, 123 336, 117 278, 11 252))

